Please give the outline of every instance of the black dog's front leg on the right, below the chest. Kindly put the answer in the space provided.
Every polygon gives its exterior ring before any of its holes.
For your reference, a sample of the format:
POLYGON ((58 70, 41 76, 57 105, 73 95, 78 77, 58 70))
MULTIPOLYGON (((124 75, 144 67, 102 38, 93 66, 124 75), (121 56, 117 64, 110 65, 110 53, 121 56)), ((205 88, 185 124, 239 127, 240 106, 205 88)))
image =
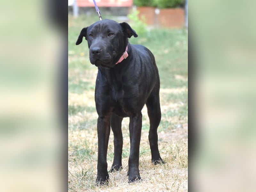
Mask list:
POLYGON ((142 126, 142 114, 137 113, 130 117, 129 131, 130 131, 130 156, 128 162, 128 181, 135 182, 141 180, 139 173, 139 153, 140 153, 140 136, 142 126))

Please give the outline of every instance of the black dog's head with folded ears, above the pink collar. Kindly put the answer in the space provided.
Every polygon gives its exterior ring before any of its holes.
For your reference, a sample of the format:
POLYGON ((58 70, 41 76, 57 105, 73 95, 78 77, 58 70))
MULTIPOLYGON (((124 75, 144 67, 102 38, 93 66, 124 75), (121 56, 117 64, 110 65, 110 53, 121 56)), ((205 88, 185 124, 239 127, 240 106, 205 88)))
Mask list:
POLYGON ((83 28, 78 36, 76 45, 88 42, 90 61, 97 67, 114 67, 122 56, 128 39, 137 37, 136 32, 126 22, 117 23, 114 20, 100 20, 91 26, 83 28))

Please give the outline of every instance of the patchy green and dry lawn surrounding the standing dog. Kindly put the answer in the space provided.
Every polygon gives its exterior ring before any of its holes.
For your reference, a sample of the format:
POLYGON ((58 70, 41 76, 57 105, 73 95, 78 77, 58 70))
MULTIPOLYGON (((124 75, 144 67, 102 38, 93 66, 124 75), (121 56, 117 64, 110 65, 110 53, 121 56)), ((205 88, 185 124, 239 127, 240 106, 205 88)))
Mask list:
MULTIPOLYGON (((108 17, 111 19, 111 17, 108 17)), ((119 172, 109 173, 109 185, 97 187, 97 113, 94 88, 97 68, 89 61, 85 39, 76 46, 83 27, 97 17, 69 16, 68 38, 68 190, 69 191, 187 191, 188 190, 188 35, 183 29, 151 29, 132 44, 143 44, 155 55, 161 80, 162 120, 158 145, 166 164, 151 164, 148 142, 149 119, 146 107, 140 142, 140 183, 128 184, 130 152, 129 118, 124 118, 122 164, 119 172)), ((121 22, 121 21, 120 21, 121 22)), ((132 26, 132 24, 131 24, 132 26)), ((108 145, 108 170, 114 157, 113 134, 108 145)))

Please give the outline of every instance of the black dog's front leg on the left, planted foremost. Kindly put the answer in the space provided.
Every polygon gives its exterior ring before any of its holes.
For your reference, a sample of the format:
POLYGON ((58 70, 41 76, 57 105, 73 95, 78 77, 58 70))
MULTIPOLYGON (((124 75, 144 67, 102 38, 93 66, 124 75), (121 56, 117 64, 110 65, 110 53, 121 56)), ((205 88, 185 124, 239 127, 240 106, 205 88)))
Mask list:
POLYGON ((108 139, 110 133, 110 117, 98 117, 98 165, 97 165, 97 183, 102 185, 108 181, 108 139))

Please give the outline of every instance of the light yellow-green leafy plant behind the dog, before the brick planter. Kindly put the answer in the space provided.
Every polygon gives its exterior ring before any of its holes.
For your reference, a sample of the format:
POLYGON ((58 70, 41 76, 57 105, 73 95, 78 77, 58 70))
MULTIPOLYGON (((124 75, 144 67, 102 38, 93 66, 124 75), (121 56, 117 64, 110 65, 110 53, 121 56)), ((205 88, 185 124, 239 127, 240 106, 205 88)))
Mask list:
POLYGON ((132 11, 128 18, 131 20, 130 25, 136 31, 138 35, 147 33, 147 24, 139 19, 139 11, 132 11))

